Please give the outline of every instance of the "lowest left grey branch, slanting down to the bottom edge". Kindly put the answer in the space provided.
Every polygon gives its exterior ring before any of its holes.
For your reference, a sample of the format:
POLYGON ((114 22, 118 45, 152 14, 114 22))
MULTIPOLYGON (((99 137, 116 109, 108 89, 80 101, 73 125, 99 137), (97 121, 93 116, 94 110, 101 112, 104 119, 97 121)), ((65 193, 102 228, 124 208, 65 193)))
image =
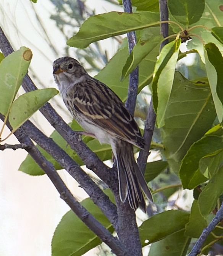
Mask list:
MULTIPOLYGON (((3 116, 0 115, 0 118, 2 119, 3 116)), ((7 126, 11 130, 11 126, 9 124, 7 124, 7 126)), ((40 168, 44 170, 57 191, 60 193, 60 197, 68 204, 79 219, 81 219, 87 225, 87 227, 90 228, 90 230, 92 230, 103 242, 105 242, 116 255, 127 255, 120 241, 113 237, 113 235, 74 198, 63 180, 60 178, 60 175, 58 175, 52 163, 45 159, 37 147, 34 146, 31 139, 24 132, 23 128, 18 128, 14 134, 21 144, 27 145, 26 151, 36 161, 40 168)))

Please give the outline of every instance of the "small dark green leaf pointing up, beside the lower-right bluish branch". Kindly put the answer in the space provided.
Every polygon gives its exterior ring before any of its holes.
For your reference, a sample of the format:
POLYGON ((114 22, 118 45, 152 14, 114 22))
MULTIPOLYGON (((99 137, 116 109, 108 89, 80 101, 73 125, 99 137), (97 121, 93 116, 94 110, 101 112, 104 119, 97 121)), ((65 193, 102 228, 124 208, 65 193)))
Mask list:
POLYGON ((186 224, 185 235, 187 237, 199 238, 205 227, 207 227, 207 220, 200 213, 198 201, 194 200, 191 207, 190 219, 186 224))

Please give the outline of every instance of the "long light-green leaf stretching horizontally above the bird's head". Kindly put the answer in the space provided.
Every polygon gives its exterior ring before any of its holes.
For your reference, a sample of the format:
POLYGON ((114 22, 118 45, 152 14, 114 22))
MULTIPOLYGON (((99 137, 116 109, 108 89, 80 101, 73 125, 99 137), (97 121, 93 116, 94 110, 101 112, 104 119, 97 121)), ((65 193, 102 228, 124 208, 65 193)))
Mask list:
POLYGON ((86 48, 92 42, 108 37, 126 34, 129 31, 158 26, 159 14, 152 12, 121 13, 109 12, 88 18, 71 37, 67 44, 77 48, 86 48))

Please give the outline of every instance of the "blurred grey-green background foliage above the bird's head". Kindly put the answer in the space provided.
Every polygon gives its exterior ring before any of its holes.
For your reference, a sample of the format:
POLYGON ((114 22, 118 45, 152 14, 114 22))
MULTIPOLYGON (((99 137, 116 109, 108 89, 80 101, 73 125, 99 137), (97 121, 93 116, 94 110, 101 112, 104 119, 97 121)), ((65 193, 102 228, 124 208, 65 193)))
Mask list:
MULTIPOLYGON (((66 41, 72 34, 78 32, 79 27, 87 18, 95 15, 95 11, 86 6, 85 0, 50 0, 50 2, 55 6, 50 19, 55 21, 66 41)), ((107 0, 107 2, 116 3, 112 0, 107 0)), ((102 50, 99 42, 95 42, 84 50, 73 49, 67 45, 65 47, 66 54, 70 55, 71 51, 74 51, 81 63, 89 64, 86 66, 88 71, 99 72, 108 62, 107 53, 102 50)))

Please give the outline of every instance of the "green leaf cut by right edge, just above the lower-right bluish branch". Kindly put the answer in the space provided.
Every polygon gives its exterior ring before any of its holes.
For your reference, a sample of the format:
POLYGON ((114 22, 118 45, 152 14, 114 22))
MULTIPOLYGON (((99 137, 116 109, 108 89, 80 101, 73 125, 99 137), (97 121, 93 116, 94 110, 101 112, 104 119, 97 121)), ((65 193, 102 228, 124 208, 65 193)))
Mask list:
POLYGON ((204 217, 215 209, 219 196, 223 193, 223 167, 210 179, 198 198, 200 212, 204 217))

